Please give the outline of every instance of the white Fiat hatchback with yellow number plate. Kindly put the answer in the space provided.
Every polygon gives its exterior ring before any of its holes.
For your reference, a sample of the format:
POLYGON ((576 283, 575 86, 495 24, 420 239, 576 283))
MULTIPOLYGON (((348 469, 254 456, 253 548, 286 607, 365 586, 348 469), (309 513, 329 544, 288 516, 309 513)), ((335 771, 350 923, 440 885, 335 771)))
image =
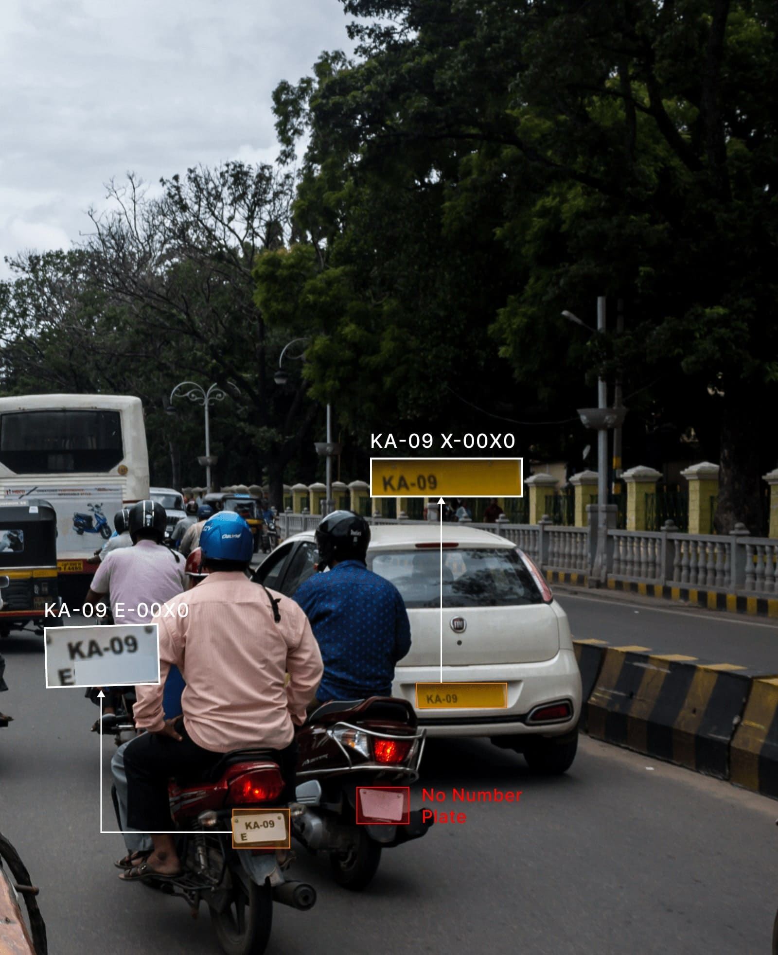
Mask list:
MULTIPOLYGON (((488 736, 535 769, 563 773, 581 709, 567 615, 511 541, 443 524, 441 550, 440 533, 436 523, 370 528, 368 567, 397 587, 410 618, 393 695, 410 700, 430 736, 488 736), (457 690, 463 683, 473 686, 457 690)), ((314 573, 314 534, 288 538, 254 579, 291 597, 314 573)))

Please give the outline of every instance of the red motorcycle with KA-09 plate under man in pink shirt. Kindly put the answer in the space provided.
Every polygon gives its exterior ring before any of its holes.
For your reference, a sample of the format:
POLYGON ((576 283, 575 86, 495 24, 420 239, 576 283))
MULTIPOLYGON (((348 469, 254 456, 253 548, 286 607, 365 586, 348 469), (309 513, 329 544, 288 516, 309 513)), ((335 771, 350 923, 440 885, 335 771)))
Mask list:
MULTIPOLYGON (((184 898, 194 915, 205 902, 226 955, 262 955, 270 939, 273 902, 301 911, 316 902, 310 885, 286 879, 293 859, 288 850, 233 848, 233 809, 279 805, 284 780, 274 755, 269 750, 226 753, 208 775, 171 781, 168 792, 172 816, 181 830, 183 873, 172 880, 144 880, 184 898)), ((293 819, 301 811, 292 804, 289 816, 293 819)), ((284 832, 274 830, 273 842, 288 843, 287 814, 274 817, 274 825, 281 825, 284 832)))

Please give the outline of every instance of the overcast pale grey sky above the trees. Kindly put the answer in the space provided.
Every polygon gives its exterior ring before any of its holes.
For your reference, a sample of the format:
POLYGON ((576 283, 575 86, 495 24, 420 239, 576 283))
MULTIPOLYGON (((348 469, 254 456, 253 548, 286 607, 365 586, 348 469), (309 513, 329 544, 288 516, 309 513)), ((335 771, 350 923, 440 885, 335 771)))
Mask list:
POLYGON ((128 171, 273 161, 273 88, 346 25, 339 0, 2 0, 0 259, 70 247, 128 171))

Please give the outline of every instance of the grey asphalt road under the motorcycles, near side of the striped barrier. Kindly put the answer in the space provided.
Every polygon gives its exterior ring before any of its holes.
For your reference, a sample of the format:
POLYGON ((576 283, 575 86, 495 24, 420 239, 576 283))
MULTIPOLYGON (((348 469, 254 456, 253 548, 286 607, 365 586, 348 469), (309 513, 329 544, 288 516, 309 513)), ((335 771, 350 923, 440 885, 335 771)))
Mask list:
MULTIPOLYGON (((575 619, 578 605, 568 605, 575 619)), ((578 626, 587 612, 603 610, 587 605, 578 626)), ((626 613, 615 614, 620 627, 626 613)), ((726 632, 737 639, 736 627, 726 632)), ((15 717, 0 730, 0 830, 41 888, 52 955, 218 952, 204 909, 195 922, 184 902, 117 880, 121 839, 98 831, 100 759, 107 787, 113 744, 104 740, 100 755, 83 690, 44 689, 42 638, 0 646, 11 686, 2 708, 15 717)), ((359 896, 329 880, 326 860, 299 859, 294 877, 313 883, 319 902, 307 913, 276 906, 268 955, 769 950, 774 801, 589 739, 556 779, 485 741, 432 741, 421 785, 447 796, 438 809, 451 807, 453 788, 522 796, 468 804, 464 824, 385 852, 359 896)), ((113 828, 110 802, 105 813, 113 828)))

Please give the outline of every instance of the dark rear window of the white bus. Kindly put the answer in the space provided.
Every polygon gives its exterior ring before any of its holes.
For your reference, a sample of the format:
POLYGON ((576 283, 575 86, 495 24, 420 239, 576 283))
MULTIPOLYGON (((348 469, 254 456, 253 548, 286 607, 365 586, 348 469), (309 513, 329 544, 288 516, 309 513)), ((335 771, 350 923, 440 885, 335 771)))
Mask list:
POLYGON ((103 474, 115 468, 123 456, 118 412, 0 415, 0 463, 14 474, 103 474))

